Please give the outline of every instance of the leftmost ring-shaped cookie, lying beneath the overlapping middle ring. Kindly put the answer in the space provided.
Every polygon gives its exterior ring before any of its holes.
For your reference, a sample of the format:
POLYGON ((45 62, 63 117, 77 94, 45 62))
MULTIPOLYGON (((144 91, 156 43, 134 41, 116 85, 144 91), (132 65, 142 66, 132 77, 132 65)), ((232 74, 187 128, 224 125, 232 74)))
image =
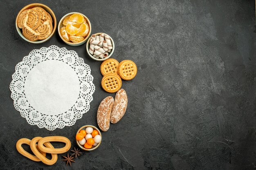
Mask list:
MULTIPOLYGON (((26 150, 24 150, 24 149, 22 148, 22 146, 21 146, 22 144, 27 144, 27 145, 31 146, 31 145, 30 145, 30 142, 31 142, 31 140, 30 140, 30 139, 27 139, 27 138, 19 139, 19 140, 17 141, 17 143, 16 143, 16 149, 18 150, 18 152, 19 152, 21 155, 23 155, 23 156, 25 156, 25 157, 27 157, 27 158, 33 160, 33 161, 37 161, 37 162, 41 161, 38 157, 36 157, 36 156, 34 156, 34 155, 28 153, 26 150)), ((45 152, 42 152, 42 151, 38 148, 37 144, 35 144, 35 148, 36 148, 35 150, 37 150, 37 151, 39 150, 39 153, 43 154, 44 157, 46 156, 46 153, 45 153, 45 152)), ((34 152, 33 152, 33 153, 34 153, 34 152)))

